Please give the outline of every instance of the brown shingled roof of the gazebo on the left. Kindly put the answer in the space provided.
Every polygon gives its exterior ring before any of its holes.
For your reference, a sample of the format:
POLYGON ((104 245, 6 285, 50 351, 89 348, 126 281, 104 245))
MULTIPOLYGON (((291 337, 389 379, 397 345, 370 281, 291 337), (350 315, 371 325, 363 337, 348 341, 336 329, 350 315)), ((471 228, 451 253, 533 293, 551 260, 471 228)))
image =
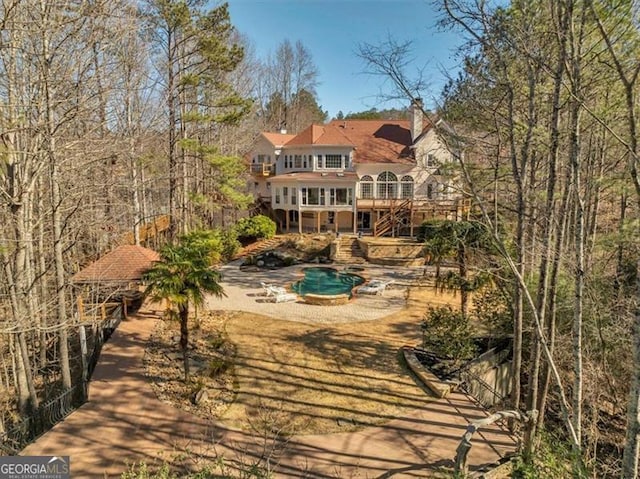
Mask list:
POLYGON ((102 258, 74 274, 74 283, 106 283, 137 281, 160 260, 160 255, 148 248, 134 245, 118 246, 102 258))

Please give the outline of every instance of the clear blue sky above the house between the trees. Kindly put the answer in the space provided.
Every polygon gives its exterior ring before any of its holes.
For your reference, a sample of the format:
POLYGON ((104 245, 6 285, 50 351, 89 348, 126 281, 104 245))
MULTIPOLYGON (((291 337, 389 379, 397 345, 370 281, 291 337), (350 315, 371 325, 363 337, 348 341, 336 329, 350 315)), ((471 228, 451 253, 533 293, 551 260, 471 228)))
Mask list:
POLYGON ((439 13, 429 0, 228 0, 231 22, 253 43, 260 58, 274 52, 286 38, 301 40, 319 71, 318 100, 330 117, 406 106, 381 103, 383 80, 363 74, 358 44, 379 44, 391 34, 414 42, 416 67, 427 66, 431 91, 423 95, 433 106, 446 76, 459 62, 455 48, 462 38, 436 27, 439 13))

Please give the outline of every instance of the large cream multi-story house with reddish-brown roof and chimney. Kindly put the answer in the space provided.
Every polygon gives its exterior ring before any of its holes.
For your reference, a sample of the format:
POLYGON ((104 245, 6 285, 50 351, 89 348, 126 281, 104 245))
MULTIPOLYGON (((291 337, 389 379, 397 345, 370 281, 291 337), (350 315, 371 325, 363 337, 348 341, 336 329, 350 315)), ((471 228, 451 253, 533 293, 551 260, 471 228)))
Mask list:
POLYGON ((333 120, 297 135, 262 133, 249 155, 256 201, 283 232, 408 234, 459 219, 469 202, 443 174, 454 153, 423 117, 333 120))

